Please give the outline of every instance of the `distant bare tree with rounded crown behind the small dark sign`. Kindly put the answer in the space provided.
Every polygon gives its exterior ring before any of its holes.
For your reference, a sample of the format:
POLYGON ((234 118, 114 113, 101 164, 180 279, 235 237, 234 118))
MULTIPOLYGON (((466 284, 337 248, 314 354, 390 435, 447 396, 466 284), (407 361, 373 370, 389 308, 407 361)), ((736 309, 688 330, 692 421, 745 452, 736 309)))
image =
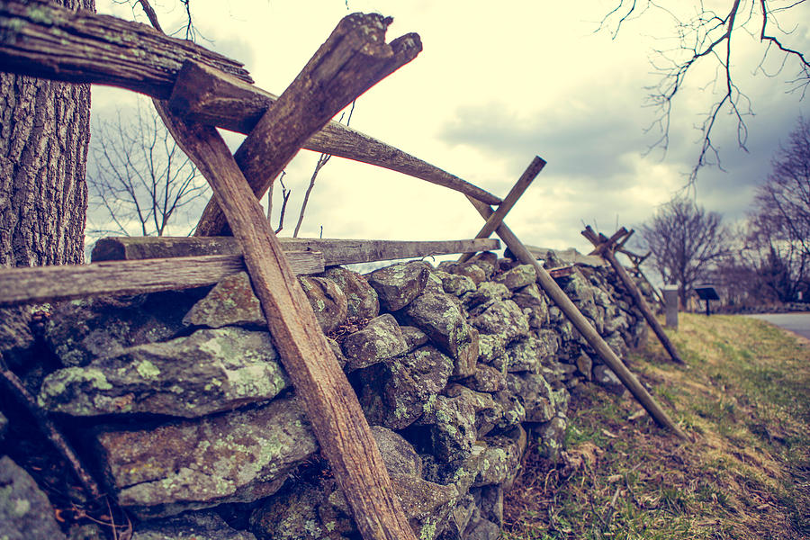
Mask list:
POLYGON ((692 199, 676 196, 640 228, 653 252, 653 266, 666 284, 677 284, 681 305, 692 285, 707 279, 728 256, 728 229, 715 211, 707 212, 692 199))

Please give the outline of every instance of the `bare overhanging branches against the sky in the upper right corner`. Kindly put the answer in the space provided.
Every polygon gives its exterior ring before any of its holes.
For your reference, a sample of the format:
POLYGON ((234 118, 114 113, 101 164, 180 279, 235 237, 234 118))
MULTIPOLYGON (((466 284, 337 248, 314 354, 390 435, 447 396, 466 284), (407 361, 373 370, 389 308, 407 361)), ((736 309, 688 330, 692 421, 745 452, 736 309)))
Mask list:
MULTIPOLYGON (((727 0, 725 9, 716 12, 703 0, 698 2, 675 2, 655 0, 618 0, 618 4, 603 19, 599 29, 611 31, 617 36, 623 25, 643 17, 649 12, 665 14, 674 25, 678 45, 671 49, 656 49, 653 68, 659 75, 658 83, 650 86, 650 104, 657 115, 653 126, 661 130, 661 138, 653 147, 666 149, 669 145, 672 103, 686 83, 689 74, 698 65, 714 67, 714 81, 701 85, 720 86, 722 92, 708 108, 706 117, 698 130, 703 139, 698 159, 692 168, 690 180, 694 181, 700 167, 715 164, 722 168, 720 155, 712 140, 712 133, 721 112, 734 117, 736 138, 740 148, 746 149, 748 127, 745 116, 752 114, 751 101, 737 85, 737 69, 759 72, 765 76, 778 76, 784 69, 792 70, 787 84, 791 92, 802 97, 810 85, 810 58, 801 49, 806 47, 806 31, 786 28, 782 19, 795 15, 805 23, 810 17, 800 14, 800 4, 806 0, 727 0), (746 36, 758 38, 762 45, 759 60, 739 61, 739 42, 746 36), (772 68, 770 68, 772 66, 772 68), (772 69, 769 71, 769 69, 772 69)), ((718 4, 717 2, 714 4, 718 4)), ((697 76, 697 74, 696 74, 697 76)))

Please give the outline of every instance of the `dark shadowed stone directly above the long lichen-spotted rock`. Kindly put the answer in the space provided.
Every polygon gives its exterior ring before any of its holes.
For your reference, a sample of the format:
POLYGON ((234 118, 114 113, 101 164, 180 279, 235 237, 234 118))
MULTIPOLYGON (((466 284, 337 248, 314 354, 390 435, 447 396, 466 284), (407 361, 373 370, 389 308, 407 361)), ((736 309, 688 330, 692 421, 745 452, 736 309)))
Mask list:
POLYGON ((87 365, 126 347, 174 338, 198 298, 189 292, 100 297, 58 304, 45 339, 62 365, 87 365))

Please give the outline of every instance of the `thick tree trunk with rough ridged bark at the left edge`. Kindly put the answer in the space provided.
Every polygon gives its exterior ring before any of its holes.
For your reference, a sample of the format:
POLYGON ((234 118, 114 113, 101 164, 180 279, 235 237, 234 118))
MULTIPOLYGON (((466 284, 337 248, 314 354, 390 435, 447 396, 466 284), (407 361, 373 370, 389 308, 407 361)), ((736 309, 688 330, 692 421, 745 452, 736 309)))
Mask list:
POLYGON ((84 262, 89 140, 90 85, 0 73, 0 266, 84 262))

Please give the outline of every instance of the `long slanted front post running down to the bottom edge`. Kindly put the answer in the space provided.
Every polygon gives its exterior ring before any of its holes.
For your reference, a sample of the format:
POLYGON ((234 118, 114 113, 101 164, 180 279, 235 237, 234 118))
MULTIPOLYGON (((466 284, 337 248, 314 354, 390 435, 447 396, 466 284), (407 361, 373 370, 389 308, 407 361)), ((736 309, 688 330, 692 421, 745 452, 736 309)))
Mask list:
POLYGON ((356 394, 228 147, 214 128, 165 118, 217 193, 275 347, 357 528, 365 540, 415 540, 356 394))

